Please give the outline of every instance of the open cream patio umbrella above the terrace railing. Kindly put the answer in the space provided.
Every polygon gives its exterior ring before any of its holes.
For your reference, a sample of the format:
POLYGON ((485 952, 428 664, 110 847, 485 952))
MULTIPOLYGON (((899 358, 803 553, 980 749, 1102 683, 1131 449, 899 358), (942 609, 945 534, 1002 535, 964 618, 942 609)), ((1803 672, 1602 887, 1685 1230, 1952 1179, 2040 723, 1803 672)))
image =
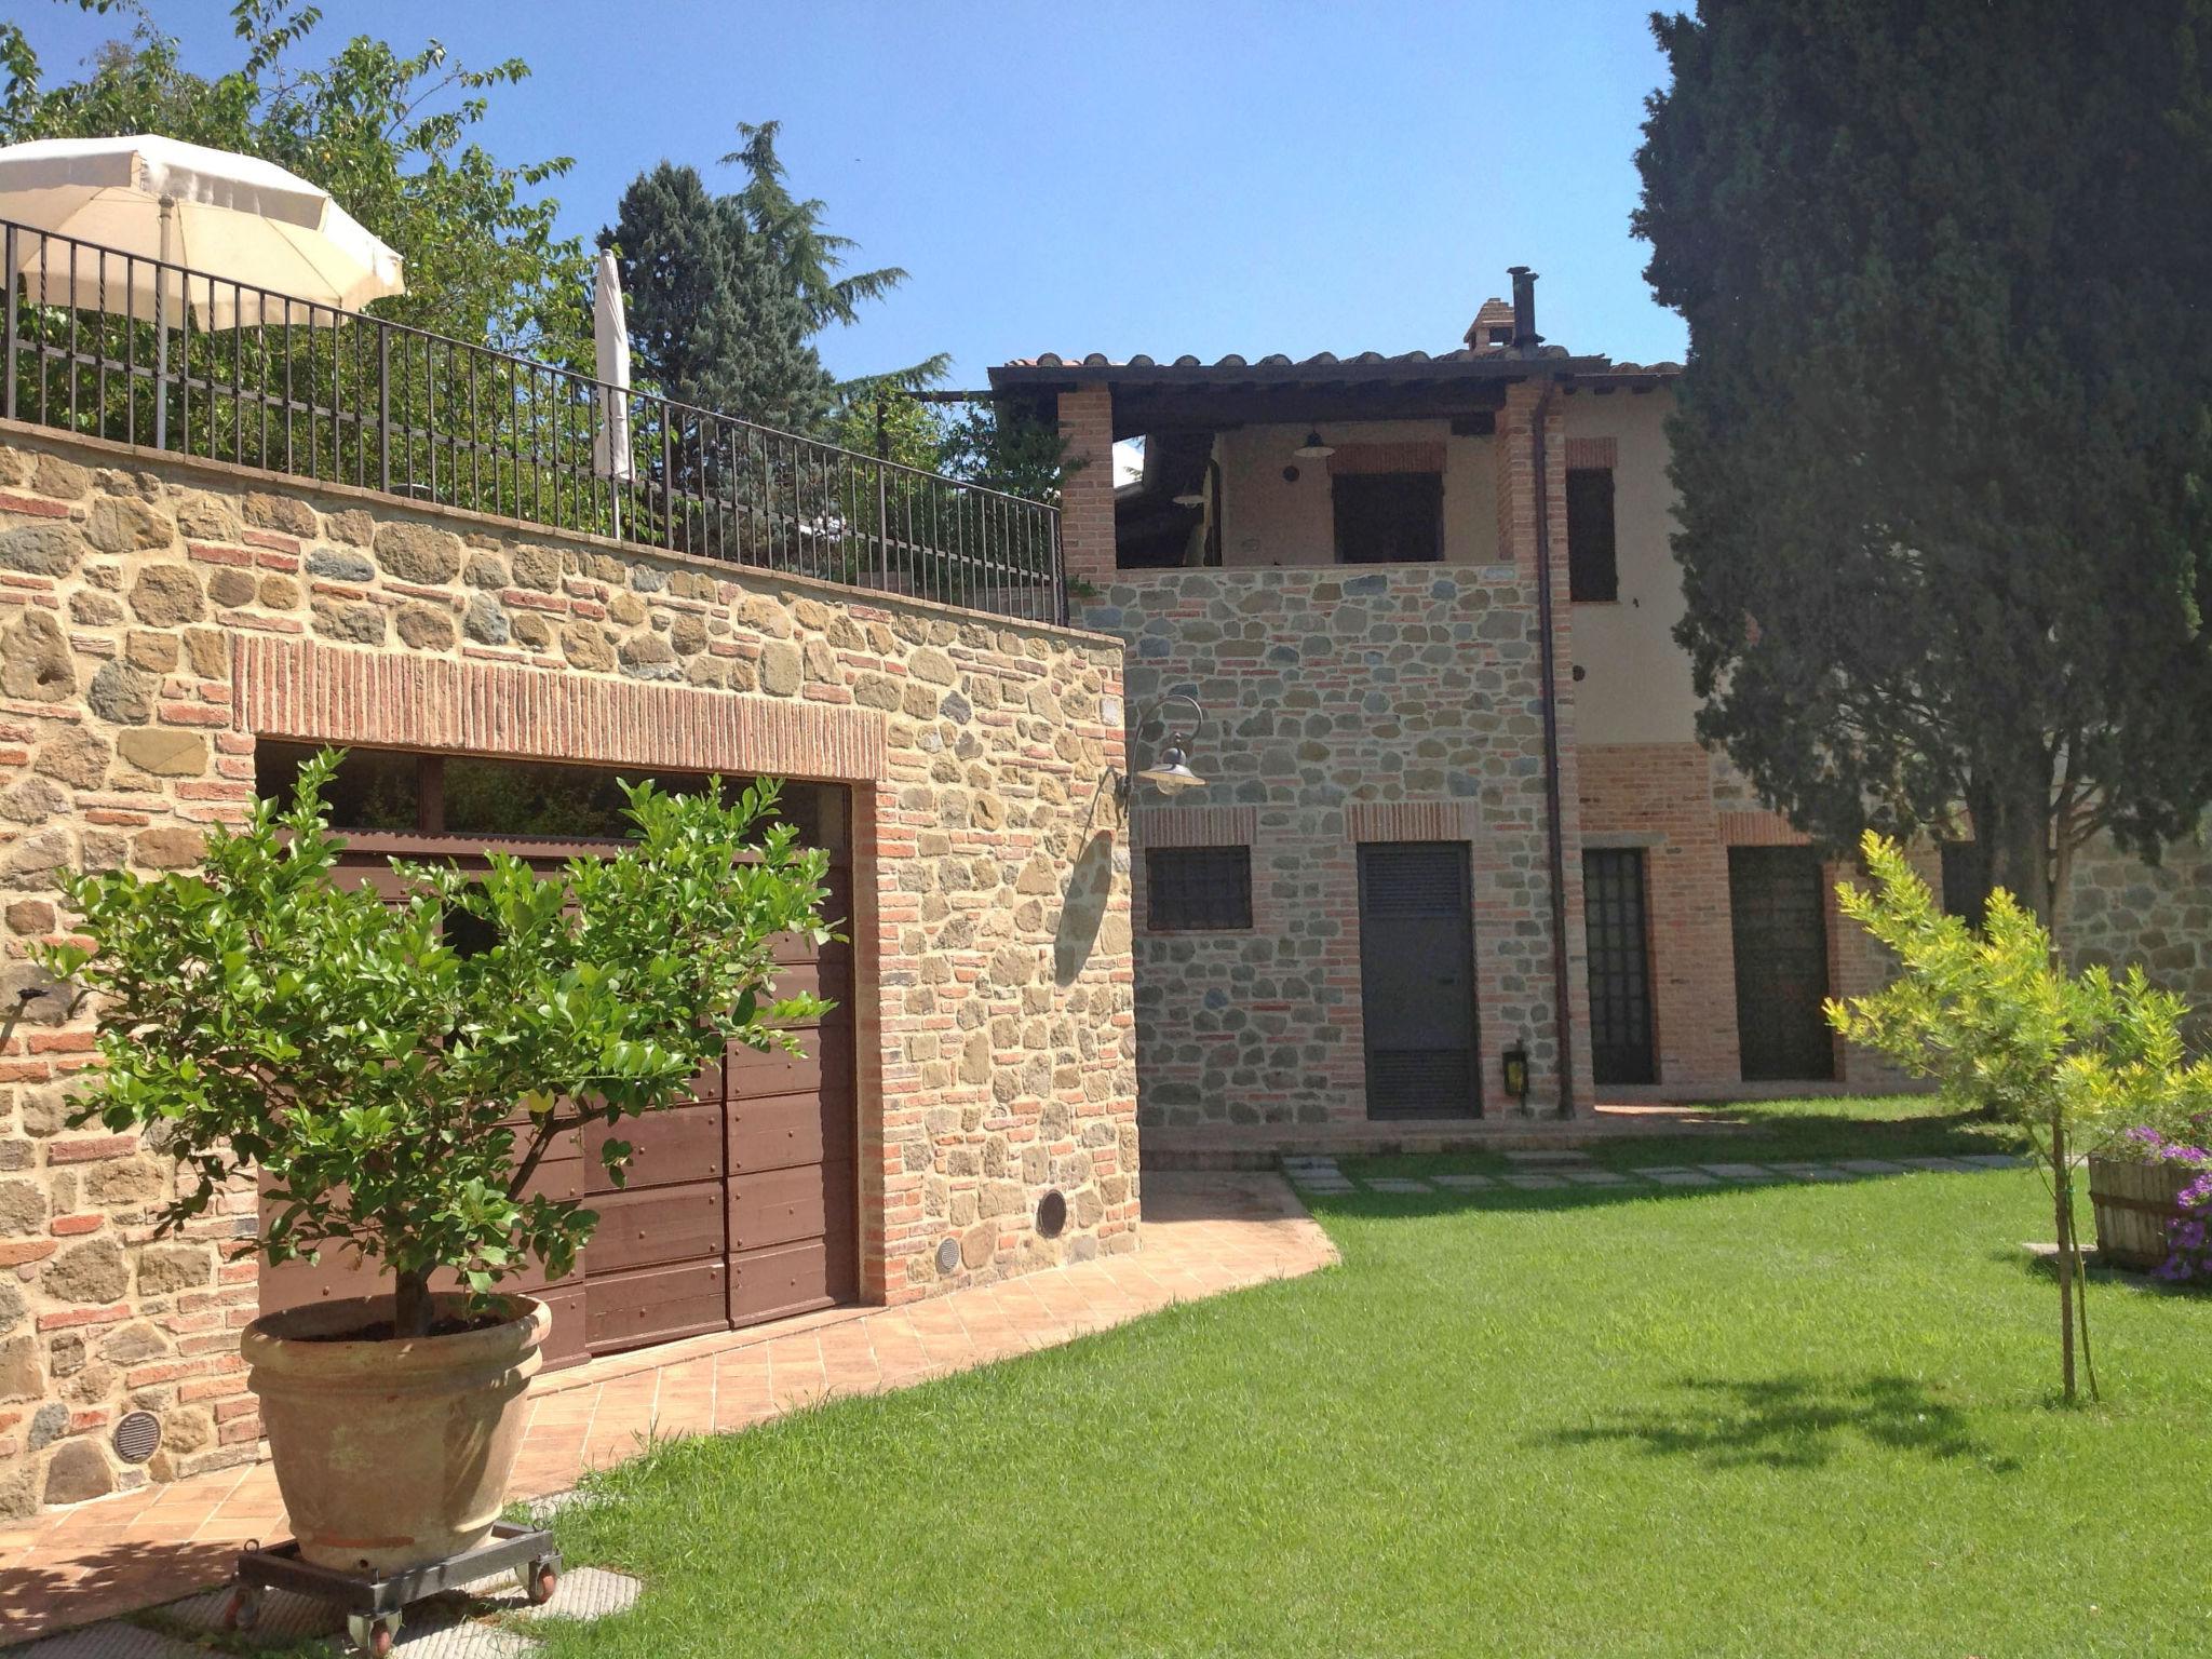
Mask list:
MULTIPOLYGON (((13 237, 15 268, 42 303, 153 319, 164 383, 168 319, 186 305, 210 330, 276 314, 230 283, 336 310, 407 290, 400 257, 327 190, 274 161, 150 133, 0 148, 0 219, 135 257, 13 237), (186 268, 219 281, 188 283, 186 268)), ((157 445, 164 434, 159 398, 157 445)))

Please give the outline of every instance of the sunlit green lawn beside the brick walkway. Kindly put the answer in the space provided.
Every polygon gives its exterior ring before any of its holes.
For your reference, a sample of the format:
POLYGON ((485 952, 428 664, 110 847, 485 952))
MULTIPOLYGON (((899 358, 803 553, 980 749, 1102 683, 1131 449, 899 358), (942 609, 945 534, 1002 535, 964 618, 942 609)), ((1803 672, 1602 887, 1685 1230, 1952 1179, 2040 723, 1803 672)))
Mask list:
MULTIPOLYGON (((1761 1124, 1699 1155, 1993 1135, 1761 1124)), ((2057 1407, 2033 1170, 1316 1214, 1334 1272, 608 1473, 564 1548, 648 1590, 553 1655, 2205 1648, 2212 1298, 2101 1283, 2057 1407)))

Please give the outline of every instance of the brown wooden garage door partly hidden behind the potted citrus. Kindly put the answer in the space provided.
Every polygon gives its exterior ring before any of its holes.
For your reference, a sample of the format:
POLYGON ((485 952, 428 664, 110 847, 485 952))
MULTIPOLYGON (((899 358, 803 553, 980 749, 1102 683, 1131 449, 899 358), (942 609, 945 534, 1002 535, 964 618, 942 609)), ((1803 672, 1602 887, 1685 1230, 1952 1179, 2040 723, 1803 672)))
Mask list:
MULTIPOLYGON (((398 757, 365 759, 380 765, 398 757)), ((270 779, 261 787, 268 792, 270 779)), ((425 816, 442 812, 445 790, 434 783, 422 801, 429 803, 425 816)), ((787 812, 805 841, 830 849, 825 914, 849 916, 847 792, 792 785, 787 812)), ((447 830, 380 830, 349 838, 345 863, 387 891, 396 889, 385 865, 394 852, 467 867, 482 863, 487 847, 482 834, 447 830)), ((553 872, 568 856, 611 852, 619 843, 502 836, 491 845, 553 872)), ((599 1228, 571 1274, 555 1283, 535 1272, 513 1281, 553 1307, 549 1367, 858 1294, 852 947, 785 938, 776 962, 779 993, 818 991, 836 1002, 821 1024, 801 1029, 803 1057, 732 1044, 692 1079, 690 1104, 626 1119, 613 1130, 571 1135, 540 1164, 533 1190, 582 1197, 599 1212, 599 1228), (608 1135, 633 1148, 619 1190, 602 1159, 608 1135)), ((341 1261, 263 1267, 261 1310, 372 1294, 378 1279, 341 1261)))

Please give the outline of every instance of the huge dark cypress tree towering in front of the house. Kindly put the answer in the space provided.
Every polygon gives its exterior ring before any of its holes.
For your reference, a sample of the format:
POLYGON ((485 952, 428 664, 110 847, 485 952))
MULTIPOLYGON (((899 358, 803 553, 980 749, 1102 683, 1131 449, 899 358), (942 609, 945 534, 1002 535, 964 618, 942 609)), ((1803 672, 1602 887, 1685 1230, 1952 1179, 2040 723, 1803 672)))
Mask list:
POLYGON ((1823 841, 1971 825, 2051 918, 2212 799, 2212 4, 1652 29, 1699 730, 1823 841))

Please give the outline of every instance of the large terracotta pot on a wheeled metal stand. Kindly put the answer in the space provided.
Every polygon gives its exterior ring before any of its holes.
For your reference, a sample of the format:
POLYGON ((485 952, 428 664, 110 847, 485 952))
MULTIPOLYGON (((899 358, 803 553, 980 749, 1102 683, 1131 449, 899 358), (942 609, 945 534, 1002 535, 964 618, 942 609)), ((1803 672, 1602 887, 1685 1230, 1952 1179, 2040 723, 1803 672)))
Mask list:
MULTIPOLYGON (((509 1296, 502 1325, 387 1343, 312 1340, 389 1323, 392 1301, 312 1303, 246 1327, 276 1486, 319 1566, 396 1573, 482 1544, 522 1444, 522 1389, 553 1310, 509 1296)), ((467 1296, 438 1296, 438 1316, 467 1296)))

